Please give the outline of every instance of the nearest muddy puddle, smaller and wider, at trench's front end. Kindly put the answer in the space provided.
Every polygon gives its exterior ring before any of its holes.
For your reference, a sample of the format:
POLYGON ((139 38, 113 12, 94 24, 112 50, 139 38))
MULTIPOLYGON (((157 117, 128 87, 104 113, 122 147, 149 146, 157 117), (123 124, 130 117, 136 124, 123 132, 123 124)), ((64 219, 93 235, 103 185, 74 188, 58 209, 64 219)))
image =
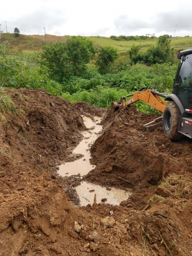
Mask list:
POLYGON ((127 200, 131 192, 126 192, 120 189, 111 188, 107 190, 105 187, 87 183, 86 181, 81 182, 81 185, 76 186, 77 194, 79 195, 80 205, 86 206, 87 204, 93 204, 94 194, 96 194, 97 204, 102 203, 102 199, 106 198, 106 204, 119 205, 121 201, 127 200), (93 191, 94 190, 94 191, 93 191))

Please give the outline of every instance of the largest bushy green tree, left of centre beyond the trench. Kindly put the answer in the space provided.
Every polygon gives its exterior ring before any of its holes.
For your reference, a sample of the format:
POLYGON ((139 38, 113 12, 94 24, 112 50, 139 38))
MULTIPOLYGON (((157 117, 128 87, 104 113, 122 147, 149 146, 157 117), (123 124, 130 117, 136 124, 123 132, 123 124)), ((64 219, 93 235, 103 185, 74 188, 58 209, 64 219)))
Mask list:
POLYGON ((60 83, 70 76, 84 76, 86 64, 95 54, 93 42, 81 36, 42 48, 41 63, 49 67, 51 79, 60 83))

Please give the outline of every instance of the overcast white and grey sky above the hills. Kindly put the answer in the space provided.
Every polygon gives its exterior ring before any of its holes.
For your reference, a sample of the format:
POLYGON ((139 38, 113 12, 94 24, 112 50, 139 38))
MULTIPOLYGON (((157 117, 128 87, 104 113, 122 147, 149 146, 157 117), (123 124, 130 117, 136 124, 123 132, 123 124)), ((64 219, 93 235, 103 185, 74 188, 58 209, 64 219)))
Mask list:
POLYGON ((192 0, 5 0, 0 29, 21 34, 192 36, 192 0))

